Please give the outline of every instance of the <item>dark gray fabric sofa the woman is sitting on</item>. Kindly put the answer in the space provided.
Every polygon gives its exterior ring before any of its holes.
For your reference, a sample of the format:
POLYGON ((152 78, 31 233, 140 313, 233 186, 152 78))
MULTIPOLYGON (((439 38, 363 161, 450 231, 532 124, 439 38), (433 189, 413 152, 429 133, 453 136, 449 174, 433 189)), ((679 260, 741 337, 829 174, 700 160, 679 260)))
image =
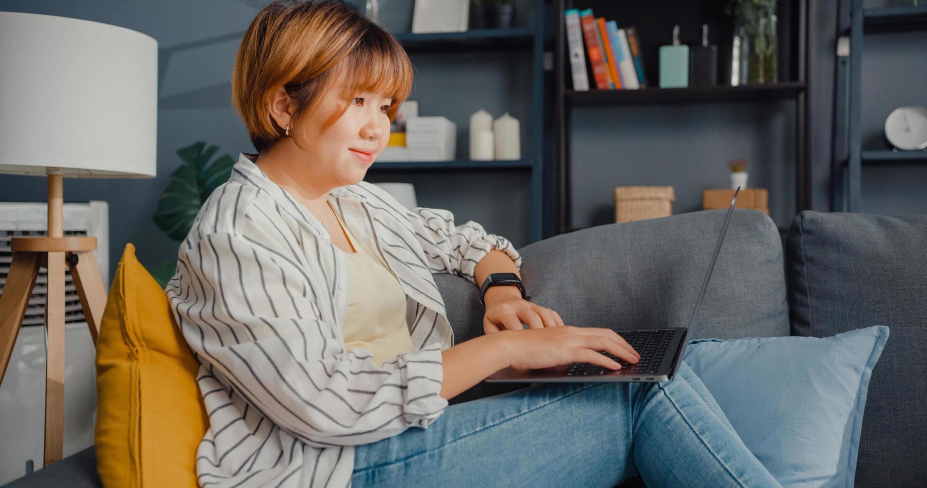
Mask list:
MULTIPOLYGON (((529 294, 574 325, 685 325, 725 211, 606 225, 530 244, 521 250, 529 294)), ((807 211, 795 217, 784 250, 768 217, 736 209, 692 338, 824 337, 888 326, 891 336, 870 382, 857 486, 923 486, 927 216, 807 211)), ((482 334, 476 287, 451 275, 436 279, 456 341, 482 334)), ((523 386, 480 383, 451 404, 523 386)), ((91 447, 8 486, 99 485, 91 447)))

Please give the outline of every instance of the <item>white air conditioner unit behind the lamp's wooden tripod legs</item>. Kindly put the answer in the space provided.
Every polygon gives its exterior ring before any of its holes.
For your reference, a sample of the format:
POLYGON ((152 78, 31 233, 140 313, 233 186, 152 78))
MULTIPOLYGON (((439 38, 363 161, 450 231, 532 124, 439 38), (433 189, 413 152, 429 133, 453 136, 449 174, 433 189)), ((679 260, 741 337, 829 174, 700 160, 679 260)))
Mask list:
MULTIPOLYGON (((0 203, 0 294, 13 252, 10 239, 44 236, 44 203, 0 203)), ((109 207, 107 202, 64 204, 64 235, 96 238, 94 257, 109 289, 109 207)), ((66 268, 67 269, 67 268, 66 268)), ((13 353, 0 385, 0 485, 19 479, 44 463, 45 327, 47 269, 41 269, 13 353)), ((65 276, 64 446, 68 457, 94 444, 96 348, 83 318, 70 270, 65 276)))

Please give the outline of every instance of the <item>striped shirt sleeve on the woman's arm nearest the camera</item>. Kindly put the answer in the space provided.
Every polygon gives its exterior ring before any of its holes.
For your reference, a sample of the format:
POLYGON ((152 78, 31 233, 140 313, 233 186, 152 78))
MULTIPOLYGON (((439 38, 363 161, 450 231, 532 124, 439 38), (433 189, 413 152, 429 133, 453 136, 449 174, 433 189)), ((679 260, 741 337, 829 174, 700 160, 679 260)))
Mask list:
MULTIPOLYGON (((309 254, 309 253, 307 253, 309 254)), ((181 244, 171 308, 197 359, 281 429, 319 447, 427 428, 448 401, 439 344, 376 365, 320 319, 321 271, 286 244, 214 232, 181 244)))

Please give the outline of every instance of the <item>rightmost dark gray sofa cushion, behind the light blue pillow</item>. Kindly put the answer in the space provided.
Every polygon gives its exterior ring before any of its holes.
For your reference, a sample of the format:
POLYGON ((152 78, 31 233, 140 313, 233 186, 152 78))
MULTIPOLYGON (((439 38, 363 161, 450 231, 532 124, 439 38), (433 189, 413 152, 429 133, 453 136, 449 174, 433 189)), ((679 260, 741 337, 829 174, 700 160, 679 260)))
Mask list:
POLYGON ((804 211, 786 238, 793 335, 892 330, 872 371, 857 486, 918 486, 927 453, 927 216, 804 211))

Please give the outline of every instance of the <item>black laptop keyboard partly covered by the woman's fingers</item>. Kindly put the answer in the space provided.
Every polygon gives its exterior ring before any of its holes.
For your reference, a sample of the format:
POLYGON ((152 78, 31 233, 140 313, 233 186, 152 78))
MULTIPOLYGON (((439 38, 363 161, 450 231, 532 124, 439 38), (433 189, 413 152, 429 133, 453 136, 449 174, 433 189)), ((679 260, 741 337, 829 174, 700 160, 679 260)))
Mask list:
POLYGON ((566 370, 566 376, 595 376, 600 374, 656 374, 673 340, 675 329, 654 329, 647 331, 616 331, 638 354, 641 360, 631 364, 606 351, 599 351, 605 357, 621 365, 621 369, 610 369, 597 364, 573 363, 566 370))

